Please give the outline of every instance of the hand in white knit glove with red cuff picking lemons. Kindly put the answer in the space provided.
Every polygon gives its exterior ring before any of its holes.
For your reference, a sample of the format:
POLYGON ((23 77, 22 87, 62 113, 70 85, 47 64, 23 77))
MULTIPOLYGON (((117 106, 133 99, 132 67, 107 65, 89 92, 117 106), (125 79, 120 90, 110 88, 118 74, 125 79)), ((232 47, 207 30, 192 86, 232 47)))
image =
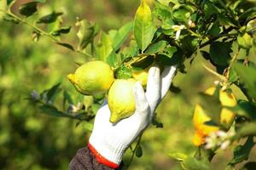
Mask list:
POLYGON ((109 122, 111 113, 107 101, 104 102, 96 114, 88 144, 97 161, 108 167, 119 167, 125 150, 152 121, 154 111, 170 88, 176 70, 177 65, 169 66, 160 75, 158 67, 151 67, 146 93, 139 82, 134 88, 135 113, 116 124, 109 122))

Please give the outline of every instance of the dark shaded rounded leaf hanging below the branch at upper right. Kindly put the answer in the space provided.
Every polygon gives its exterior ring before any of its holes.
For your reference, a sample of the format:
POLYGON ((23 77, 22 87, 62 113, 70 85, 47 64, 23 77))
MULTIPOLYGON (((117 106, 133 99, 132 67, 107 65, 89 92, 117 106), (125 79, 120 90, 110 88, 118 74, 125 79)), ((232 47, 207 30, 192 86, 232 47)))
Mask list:
POLYGON ((210 57, 214 64, 216 65, 229 65, 230 63, 230 53, 231 42, 212 42, 210 45, 210 57))

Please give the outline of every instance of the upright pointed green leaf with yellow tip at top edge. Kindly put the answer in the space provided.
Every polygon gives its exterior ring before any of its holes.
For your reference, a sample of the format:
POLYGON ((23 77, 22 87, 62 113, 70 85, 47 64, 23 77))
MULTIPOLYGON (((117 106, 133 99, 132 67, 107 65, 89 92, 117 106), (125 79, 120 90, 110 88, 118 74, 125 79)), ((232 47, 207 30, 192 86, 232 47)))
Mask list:
POLYGON ((145 0, 142 0, 141 5, 137 8, 134 20, 134 37, 137 45, 142 52, 148 47, 148 44, 154 37, 155 27, 151 10, 145 0))

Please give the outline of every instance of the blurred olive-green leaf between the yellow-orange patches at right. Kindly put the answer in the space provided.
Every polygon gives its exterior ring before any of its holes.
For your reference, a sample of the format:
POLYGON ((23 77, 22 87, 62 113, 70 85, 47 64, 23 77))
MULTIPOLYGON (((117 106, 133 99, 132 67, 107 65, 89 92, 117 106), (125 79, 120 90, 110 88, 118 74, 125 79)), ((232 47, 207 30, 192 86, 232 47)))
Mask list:
POLYGON ((221 104, 218 97, 208 95, 208 94, 199 94, 200 104, 207 116, 211 117, 212 121, 219 124, 220 123, 220 112, 221 104))

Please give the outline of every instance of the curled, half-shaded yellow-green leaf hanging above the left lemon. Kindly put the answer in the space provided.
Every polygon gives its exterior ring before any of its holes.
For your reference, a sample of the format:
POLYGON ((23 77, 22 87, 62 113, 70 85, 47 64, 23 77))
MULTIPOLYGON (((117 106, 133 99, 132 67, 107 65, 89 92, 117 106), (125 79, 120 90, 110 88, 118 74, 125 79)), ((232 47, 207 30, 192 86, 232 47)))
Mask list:
POLYGON ((99 31, 98 26, 91 25, 87 20, 78 20, 77 26, 79 26, 79 31, 77 36, 79 37, 79 50, 87 47, 87 45, 93 41, 93 38, 99 31))

